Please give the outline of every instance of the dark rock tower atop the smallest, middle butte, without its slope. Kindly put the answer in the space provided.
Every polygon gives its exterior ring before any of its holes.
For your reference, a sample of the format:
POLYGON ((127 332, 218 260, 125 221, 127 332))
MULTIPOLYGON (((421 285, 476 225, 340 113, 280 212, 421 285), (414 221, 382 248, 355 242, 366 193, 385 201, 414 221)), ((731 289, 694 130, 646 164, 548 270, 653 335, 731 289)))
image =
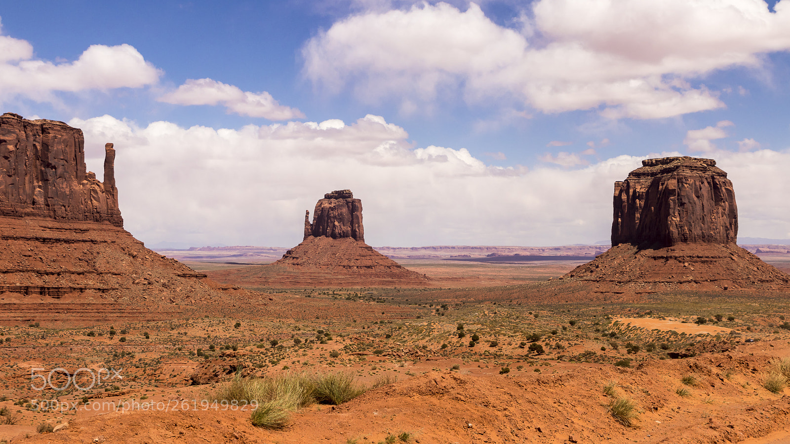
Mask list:
POLYGON ((309 222, 310 211, 304 217, 304 239, 329 237, 332 239, 352 238, 365 241, 362 227, 362 201, 354 198, 351 190, 336 190, 324 194, 313 210, 313 223, 309 222))

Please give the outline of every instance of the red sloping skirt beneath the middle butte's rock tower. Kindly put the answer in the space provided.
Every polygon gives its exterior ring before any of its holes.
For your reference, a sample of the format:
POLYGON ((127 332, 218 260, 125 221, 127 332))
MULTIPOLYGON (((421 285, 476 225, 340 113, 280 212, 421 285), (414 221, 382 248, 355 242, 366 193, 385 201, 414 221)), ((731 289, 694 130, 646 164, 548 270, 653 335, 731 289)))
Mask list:
POLYGON ((310 236, 272 264, 207 274, 218 282, 247 287, 415 287, 428 283, 424 275, 351 237, 310 236))

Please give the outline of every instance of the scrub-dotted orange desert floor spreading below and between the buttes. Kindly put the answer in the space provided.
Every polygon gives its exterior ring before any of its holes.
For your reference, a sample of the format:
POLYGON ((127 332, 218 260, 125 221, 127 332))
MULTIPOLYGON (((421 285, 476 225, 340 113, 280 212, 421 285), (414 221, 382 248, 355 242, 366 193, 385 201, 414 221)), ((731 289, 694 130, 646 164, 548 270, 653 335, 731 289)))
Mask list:
MULTIPOLYGON (((790 271, 787 254, 762 258, 790 271)), ((243 266, 179 259, 218 277, 243 266)), ((164 321, 6 322, 0 440, 790 440, 790 391, 770 385, 790 355, 783 295, 547 300, 541 285, 586 261, 398 262, 431 284, 250 288, 264 310, 217 307, 164 321), (220 399, 236 374, 344 375, 368 390, 339 405, 305 404, 284 427, 261 428, 249 406, 220 399), (625 416, 623 402, 632 407, 625 416)))

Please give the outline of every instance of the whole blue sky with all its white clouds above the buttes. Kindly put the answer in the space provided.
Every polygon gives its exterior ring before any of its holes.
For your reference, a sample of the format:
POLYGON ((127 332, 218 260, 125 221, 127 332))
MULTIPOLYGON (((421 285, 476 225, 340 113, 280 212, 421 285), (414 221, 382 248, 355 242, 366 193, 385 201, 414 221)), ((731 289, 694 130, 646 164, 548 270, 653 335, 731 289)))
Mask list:
POLYGON ((594 243, 612 182, 667 154, 719 161, 741 236, 790 238, 790 0, 6 2, 0 23, 0 109, 81 127, 94 171, 114 142, 149 244, 292 246, 340 188, 374 246, 594 243))

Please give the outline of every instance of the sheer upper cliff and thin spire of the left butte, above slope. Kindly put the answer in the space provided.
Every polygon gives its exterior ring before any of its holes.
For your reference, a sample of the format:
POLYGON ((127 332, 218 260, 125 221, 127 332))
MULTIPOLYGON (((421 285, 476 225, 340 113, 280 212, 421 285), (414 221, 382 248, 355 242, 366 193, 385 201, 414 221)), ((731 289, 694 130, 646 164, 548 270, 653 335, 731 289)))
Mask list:
POLYGON ((85 166, 82 130, 55 120, 0 116, 0 216, 108 222, 123 227, 115 149, 105 145, 104 182, 85 166))

